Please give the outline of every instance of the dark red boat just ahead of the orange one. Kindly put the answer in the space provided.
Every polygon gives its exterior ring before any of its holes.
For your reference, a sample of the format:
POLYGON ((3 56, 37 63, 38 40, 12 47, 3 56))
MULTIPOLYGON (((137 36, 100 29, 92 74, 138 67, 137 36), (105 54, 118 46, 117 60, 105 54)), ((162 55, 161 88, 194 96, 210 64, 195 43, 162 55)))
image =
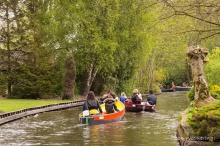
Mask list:
POLYGON ((138 100, 135 104, 131 99, 125 100, 125 109, 128 112, 141 112, 141 111, 150 111, 154 112, 154 106, 147 104, 147 102, 138 100))

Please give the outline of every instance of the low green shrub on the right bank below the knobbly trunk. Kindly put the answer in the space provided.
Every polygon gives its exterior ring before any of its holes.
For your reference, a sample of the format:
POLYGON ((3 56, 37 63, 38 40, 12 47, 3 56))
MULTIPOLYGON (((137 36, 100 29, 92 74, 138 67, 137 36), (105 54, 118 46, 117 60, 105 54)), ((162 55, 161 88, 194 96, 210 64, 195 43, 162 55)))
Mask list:
POLYGON ((220 135, 220 102, 191 112, 192 116, 188 118, 188 122, 195 134, 214 137, 220 135))

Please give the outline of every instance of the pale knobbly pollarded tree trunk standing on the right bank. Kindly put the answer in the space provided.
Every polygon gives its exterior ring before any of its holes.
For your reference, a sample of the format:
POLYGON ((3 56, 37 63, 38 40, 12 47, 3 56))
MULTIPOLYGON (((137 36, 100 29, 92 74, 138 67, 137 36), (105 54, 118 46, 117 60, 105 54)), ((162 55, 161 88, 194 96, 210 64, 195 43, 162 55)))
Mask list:
POLYGON ((204 72, 204 63, 208 60, 205 58, 208 55, 208 50, 200 46, 190 46, 187 48, 187 56, 191 62, 193 83, 195 88, 195 106, 203 107, 214 101, 208 90, 204 72))

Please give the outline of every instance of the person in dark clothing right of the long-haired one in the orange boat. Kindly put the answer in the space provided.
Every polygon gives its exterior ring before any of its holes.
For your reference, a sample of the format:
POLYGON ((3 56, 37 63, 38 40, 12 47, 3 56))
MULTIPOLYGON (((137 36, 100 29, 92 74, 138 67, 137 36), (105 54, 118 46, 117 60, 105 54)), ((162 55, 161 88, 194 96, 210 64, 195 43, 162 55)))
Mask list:
POLYGON ((108 98, 106 98, 103 102, 105 103, 105 111, 107 114, 119 111, 115 105, 115 99, 111 95, 109 95, 108 98))

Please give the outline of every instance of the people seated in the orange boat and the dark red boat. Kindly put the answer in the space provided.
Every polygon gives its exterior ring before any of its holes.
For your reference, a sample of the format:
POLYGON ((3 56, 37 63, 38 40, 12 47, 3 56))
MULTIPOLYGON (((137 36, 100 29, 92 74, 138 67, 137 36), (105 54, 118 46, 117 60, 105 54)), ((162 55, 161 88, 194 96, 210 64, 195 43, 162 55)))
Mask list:
MULTIPOLYGON (((107 94, 105 94, 101 101, 105 103, 105 111, 107 114, 118 112, 118 108, 115 104, 116 100, 120 100, 122 103, 127 100, 126 94, 124 92, 121 93, 119 99, 115 96, 112 90, 109 90, 107 94)), ((135 104, 137 101, 142 101, 142 95, 140 94, 138 89, 133 90, 133 95, 131 97, 132 102, 135 104)), ((156 105, 157 97, 154 95, 153 90, 149 91, 149 95, 147 96, 147 101, 149 105, 156 105)), ((83 104, 83 111, 85 110, 98 110, 99 113, 103 113, 102 108, 100 106, 99 100, 95 97, 93 91, 89 91, 86 97, 86 101, 83 104)))

